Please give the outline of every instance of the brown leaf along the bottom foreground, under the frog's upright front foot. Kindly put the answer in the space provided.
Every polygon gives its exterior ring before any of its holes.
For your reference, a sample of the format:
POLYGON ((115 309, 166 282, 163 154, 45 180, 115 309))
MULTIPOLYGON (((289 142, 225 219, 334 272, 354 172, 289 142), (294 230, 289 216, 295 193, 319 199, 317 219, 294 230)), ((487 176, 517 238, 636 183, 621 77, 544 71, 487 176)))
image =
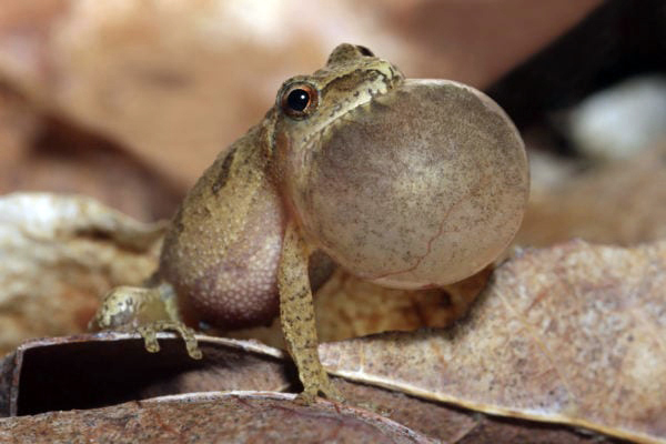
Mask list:
POLYGON ((212 443, 432 440, 353 406, 294 403, 280 393, 191 394, 114 407, 0 420, 0 441, 212 443))

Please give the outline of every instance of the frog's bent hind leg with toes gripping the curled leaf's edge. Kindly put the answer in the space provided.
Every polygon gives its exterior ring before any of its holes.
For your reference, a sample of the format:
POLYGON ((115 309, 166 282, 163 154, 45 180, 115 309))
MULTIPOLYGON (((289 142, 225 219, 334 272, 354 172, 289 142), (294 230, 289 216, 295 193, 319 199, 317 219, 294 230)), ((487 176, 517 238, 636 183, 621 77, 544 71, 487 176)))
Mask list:
POLYGON ((151 353, 160 351, 157 339, 159 332, 175 331, 185 342, 188 354, 195 360, 202 357, 194 331, 179 320, 175 294, 167 283, 149 287, 112 289, 104 295, 88 327, 138 332, 151 353))

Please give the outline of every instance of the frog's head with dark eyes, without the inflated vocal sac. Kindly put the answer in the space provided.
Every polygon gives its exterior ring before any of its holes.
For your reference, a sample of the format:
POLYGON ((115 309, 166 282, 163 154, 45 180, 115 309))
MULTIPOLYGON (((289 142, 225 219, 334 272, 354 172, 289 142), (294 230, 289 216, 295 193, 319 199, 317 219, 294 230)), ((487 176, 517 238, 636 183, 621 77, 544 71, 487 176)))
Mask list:
POLYGON ((274 154, 303 154, 346 113, 403 81, 404 75, 394 64, 375 57, 367 48, 337 46, 324 68, 311 75, 295 75, 278 91, 272 111, 274 154))

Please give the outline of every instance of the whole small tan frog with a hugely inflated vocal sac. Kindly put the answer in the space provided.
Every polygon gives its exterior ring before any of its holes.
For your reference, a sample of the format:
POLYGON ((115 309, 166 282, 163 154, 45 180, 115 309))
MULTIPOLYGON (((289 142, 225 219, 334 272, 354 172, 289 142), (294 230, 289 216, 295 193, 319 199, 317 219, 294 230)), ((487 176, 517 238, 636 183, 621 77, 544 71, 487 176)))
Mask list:
POLYGON ((171 221, 155 273, 103 299, 93 329, 134 330, 150 352, 172 330, 280 316, 303 391, 344 401, 322 366, 313 289, 333 266, 379 285, 433 289, 509 244, 528 194, 519 133, 472 87, 406 79, 363 46, 286 80, 261 122, 224 150, 171 221))

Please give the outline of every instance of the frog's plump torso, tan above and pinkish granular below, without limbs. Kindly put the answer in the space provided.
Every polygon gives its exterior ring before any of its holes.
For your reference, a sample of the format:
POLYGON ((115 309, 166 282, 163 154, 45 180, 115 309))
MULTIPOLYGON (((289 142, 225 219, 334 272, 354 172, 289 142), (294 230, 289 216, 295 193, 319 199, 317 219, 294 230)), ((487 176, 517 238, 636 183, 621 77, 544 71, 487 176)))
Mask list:
POLYGON ((261 139, 258 125, 215 160, 164 239, 160 276, 174 286, 189 323, 231 329, 278 314, 284 214, 261 139))

